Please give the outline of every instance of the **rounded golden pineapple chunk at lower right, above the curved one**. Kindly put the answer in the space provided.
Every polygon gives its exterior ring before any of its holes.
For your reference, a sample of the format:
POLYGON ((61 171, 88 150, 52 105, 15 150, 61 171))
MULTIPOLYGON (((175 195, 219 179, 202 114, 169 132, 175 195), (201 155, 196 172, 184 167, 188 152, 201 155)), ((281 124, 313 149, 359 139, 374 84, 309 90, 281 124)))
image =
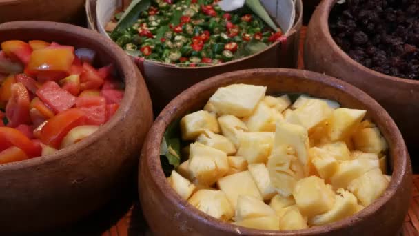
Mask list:
POLYGON ((292 195, 300 212, 308 217, 326 213, 335 203, 335 193, 331 186, 314 175, 300 179, 292 195))

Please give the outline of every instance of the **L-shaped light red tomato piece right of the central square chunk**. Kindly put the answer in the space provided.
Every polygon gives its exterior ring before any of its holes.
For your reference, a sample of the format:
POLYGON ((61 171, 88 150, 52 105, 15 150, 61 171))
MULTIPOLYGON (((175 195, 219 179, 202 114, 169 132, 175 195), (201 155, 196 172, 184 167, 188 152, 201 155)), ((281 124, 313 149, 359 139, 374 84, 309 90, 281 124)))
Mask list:
POLYGON ((99 126, 106 122, 106 100, 101 96, 76 98, 76 107, 85 112, 86 124, 99 126))

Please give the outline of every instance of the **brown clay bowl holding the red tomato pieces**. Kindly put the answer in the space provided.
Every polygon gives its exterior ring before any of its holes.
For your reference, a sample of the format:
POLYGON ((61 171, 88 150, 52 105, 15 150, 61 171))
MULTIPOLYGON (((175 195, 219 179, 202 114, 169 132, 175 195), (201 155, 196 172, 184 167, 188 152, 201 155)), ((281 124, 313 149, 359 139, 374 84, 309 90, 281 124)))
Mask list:
POLYGON ((70 224, 134 184, 152 104, 145 82, 125 52, 91 30, 64 23, 0 24, 0 42, 41 39, 92 48, 96 66, 114 63, 125 97, 114 117, 90 137, 52 155, 0 165, 1 234, 70 224), (130 177, 132 177, 130 179, 130 177))

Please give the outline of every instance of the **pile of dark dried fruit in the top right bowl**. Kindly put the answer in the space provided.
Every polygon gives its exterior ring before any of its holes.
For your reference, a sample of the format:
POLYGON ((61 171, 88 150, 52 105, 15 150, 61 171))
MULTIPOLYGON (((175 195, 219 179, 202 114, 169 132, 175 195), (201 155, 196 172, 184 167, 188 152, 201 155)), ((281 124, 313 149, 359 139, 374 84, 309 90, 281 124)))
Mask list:
POLYGON ((378 72, 419 79, 419 0, 347 0, 329 17, 338 46, 378 72))

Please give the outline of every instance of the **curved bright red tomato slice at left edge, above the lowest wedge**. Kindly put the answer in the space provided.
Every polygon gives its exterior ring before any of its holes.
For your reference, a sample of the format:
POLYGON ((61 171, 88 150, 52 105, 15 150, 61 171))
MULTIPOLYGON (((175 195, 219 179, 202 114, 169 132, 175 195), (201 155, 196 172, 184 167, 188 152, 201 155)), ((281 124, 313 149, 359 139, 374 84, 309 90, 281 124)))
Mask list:
POLYGON ((0 127, 0 151, 11 146, 21 148, 28 157, 39 157, 41 155, 41 146, 28 139, 22 132, 15 128, 0 127))

